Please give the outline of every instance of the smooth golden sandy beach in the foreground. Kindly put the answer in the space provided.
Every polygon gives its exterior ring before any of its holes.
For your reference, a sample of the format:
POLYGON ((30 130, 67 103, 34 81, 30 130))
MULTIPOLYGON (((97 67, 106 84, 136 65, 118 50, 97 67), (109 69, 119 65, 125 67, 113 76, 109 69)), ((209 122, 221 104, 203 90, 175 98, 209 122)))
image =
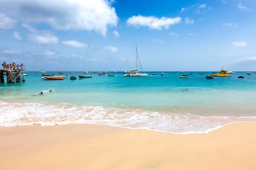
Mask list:
POLYGON ((255 170, 256 123, 173 135, 106 125, 0 127, 0 170, 255 170))

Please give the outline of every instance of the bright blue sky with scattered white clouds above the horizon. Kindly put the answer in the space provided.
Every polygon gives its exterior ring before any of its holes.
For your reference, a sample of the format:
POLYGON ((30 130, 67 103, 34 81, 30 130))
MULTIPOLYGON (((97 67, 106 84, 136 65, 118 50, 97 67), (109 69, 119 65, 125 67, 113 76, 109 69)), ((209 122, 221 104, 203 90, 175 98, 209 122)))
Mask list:
POLYGON ((26 71, 256 71, 255 0, 0 0, 0 62, 26 71))

